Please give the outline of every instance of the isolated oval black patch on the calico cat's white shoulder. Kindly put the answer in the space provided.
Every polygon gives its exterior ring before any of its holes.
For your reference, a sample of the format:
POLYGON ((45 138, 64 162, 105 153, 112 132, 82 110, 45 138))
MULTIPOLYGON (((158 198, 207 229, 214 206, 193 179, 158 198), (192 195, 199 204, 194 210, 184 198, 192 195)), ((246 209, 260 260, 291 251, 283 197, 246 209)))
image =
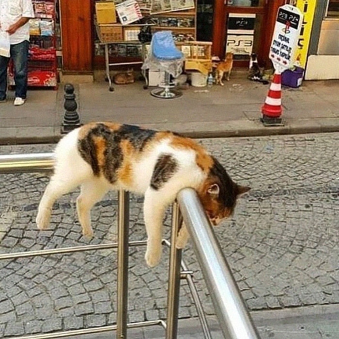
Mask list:
POLYGON ((166 182, 170 180, 177 169, 178 163, 172 155, 160 155, 154 166, 151 178, 151 187, 155 190, 161 188, 166 182))

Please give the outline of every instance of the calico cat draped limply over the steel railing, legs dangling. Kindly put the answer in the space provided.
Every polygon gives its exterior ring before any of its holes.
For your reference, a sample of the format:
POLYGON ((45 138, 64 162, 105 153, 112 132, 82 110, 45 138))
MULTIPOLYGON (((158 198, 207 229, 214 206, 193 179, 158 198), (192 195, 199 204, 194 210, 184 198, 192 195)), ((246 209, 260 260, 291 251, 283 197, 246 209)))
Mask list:
MULTIPOLYGON (((161 257, 162 220, 184 187, 194 188, 213 225, 231 216, 236 199, 249 190, 235 184, 213 156, 192 139, 166 131, 118 123, 88 123, 62 138, 54 173, 40 201, 36 223, 45 229, 55 200, 80 185, 77 214, 83 235, 92 237, 90 211, 108 190, 144 194, 149 266, 161 257)), ((183 225, 176 243, 185 246, 183 225)))

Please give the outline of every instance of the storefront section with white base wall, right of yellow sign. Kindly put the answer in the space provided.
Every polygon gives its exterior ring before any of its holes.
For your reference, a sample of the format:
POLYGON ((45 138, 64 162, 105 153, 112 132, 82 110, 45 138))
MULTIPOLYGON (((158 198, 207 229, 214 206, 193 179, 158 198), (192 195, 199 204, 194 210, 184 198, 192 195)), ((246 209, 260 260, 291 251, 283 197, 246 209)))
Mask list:
POLYGON ((317 1, 305 79, 339 79, 339 0, 317 1))

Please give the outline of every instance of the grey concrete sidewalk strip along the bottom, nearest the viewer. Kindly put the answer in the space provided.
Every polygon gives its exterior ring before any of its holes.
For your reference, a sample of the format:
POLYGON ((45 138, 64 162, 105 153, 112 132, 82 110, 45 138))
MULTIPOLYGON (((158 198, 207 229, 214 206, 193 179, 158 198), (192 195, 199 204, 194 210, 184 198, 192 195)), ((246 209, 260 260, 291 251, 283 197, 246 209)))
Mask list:
MULTIPOLYGON (((251 312, 261 339, 323 339, 339 337, 338 305, 309 306, 279 310, 251 312)), ((209 329, 213 339, 224 339, 215 316, 209 316, 209 329)), ((165 338, 165 330, 159 326, 128 329, 133 339, 165 338)), ((66 337, 66 339, 114 339, 116 332, 66 337)), ((179 339, 204 339, 199 319, 180 319, 179 339)), ((239 338, 241 339, 241 338, 239 338)))

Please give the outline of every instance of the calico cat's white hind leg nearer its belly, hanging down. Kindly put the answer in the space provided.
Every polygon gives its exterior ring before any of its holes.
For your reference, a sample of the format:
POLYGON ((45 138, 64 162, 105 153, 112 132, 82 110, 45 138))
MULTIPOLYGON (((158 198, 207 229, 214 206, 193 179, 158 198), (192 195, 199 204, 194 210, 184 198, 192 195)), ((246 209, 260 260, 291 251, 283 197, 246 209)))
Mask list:
POLYGON ((100 178, 94 178, 81 185, 80 195, 77 197, 77 215, 82 227, 82 234, 92 238, 91 209, 93 205, 102 199, 108 191, 108 184, 100 178))

